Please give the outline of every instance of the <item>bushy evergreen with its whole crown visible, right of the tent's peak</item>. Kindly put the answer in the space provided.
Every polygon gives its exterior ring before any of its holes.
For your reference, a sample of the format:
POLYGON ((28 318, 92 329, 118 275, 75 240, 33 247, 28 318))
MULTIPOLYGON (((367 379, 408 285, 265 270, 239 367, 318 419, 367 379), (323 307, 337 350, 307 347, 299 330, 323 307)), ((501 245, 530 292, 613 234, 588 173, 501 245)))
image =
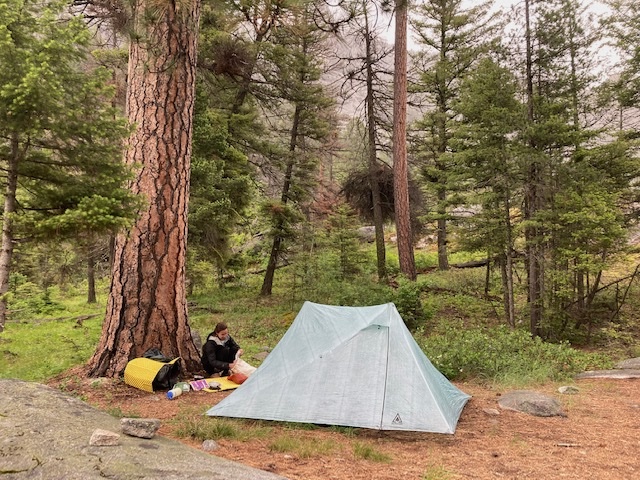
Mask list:
POLYGON ((517 93, 507 69, 489 59, 481 61, 460 86, 454 110, 462 119, 452 139, 465 184, 476 193, 469 200, 472 207, 481 207, 466 222, 461 242, 470 250, 485 250, 489 262, 498 260, 511 327, 516 324, 514 254, 523 181, 515 134, 523 127, 524 108, 517 93))

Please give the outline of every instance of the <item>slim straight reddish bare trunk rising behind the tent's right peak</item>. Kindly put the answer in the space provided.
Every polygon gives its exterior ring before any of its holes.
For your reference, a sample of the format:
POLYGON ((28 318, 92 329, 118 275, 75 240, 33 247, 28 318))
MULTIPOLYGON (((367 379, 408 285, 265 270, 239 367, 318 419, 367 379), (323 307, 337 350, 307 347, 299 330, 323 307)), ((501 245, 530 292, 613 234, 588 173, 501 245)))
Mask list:
POLYGON ((393 197, 400 271, 416 279, 407 167, 407 0, 396 0, 393 82, 393 197))

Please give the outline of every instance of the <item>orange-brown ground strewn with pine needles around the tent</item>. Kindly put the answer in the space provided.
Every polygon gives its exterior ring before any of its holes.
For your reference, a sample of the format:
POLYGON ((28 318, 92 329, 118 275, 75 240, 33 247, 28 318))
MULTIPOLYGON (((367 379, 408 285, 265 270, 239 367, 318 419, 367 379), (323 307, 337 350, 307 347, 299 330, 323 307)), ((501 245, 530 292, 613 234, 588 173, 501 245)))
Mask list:
MULTIPOLYGON (((205 412, 229 392, 188 392, 168 400, 164 392, 146 393, 121 382, 100 387, 90 380, 58 378, 52 386, 81 395, 88 403, 125 416, 158 418, 161 435, 174 434, 181 412, 205 412)), ((74 378, 78 378, 75 376, 74 378)), ((347 436, 329 429, 287 435, 333 445, 330 453, 300 458, 270 450, 274 436, 246 442, 219 440, 212 452, 289 479, 612 479, 640 478, 640 379, 579 380, 579 393, 561 395, 559 385, 536 391, 560 400, 566 417, 540 418, 500 410, 501 391, 456 383, 472 395, 454 435, 358 430, 347 436), (498 412, 496 412, 498 410, 498 412), (356 458, 356 444, 370 446, 389 462, 356 458)), ((201 448, 200 441, 179 439, 201 448)))

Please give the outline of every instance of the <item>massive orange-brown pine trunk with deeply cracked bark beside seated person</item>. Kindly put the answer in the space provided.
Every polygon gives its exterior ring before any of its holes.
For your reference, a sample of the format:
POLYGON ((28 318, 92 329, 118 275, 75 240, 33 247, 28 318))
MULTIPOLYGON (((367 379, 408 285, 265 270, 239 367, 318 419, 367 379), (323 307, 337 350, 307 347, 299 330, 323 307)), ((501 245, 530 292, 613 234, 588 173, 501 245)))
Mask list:
POLYGON ((127 115, 135 131, 125 160, 139 169, 131 188, 145 207, 116 239, 111 291, 91 376, 116 376, 149 348, 200 370, 187 318, 185 250, 199 0, 136 3, 129 50, 127 115), (157 7, 157 4, 154 4, 157 7))

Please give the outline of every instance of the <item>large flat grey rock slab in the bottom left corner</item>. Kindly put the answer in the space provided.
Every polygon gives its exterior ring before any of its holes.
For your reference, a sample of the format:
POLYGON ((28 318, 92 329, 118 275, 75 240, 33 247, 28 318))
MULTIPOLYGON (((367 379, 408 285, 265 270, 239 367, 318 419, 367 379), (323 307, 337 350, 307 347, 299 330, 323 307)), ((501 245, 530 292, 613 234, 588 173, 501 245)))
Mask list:
POLYGON ((175 440, 120 435, 118 445, 91 446, 120 420, 61 391, 0 379, 2 480, 283 480, 175 440))

